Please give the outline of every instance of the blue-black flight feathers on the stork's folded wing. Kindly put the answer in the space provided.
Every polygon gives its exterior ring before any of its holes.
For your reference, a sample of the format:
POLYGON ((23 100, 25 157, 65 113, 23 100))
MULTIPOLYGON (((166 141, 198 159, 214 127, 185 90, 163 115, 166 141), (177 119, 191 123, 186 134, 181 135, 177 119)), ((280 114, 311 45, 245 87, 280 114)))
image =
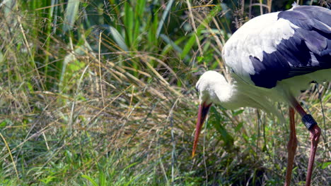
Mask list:
POLYGON ((277 81, 331 68, 331 10, 319 6, 297 6, 278 14, 298 28, 283 39, 277 51, 263 52, 260 61, 250 56, 255 74, 250 75, 259 87, 275 87, 277 81))

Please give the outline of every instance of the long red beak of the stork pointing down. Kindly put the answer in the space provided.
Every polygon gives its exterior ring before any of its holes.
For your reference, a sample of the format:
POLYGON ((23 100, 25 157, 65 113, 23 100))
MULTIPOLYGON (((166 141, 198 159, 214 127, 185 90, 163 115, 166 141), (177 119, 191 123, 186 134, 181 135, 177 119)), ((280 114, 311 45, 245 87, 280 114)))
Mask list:
POLYGON ((211 106, 211 104, 207 105, 205 102, 203 102, 202 104, 199 105, 197 126, 195 127, 192 157, 194 157, 195 149, 197 149, 197 142, 199 140, 200 131, 201 131, 202 125, 204 125, 204 120, 206 120, 206 118, 207 118, 207 114, 208 114, 210 106, 211 106))

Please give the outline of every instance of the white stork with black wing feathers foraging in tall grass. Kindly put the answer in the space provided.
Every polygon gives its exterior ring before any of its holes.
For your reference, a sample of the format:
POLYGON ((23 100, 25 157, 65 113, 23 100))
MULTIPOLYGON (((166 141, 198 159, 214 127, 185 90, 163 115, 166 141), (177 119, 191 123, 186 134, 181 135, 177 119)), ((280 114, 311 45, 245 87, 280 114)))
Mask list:
POLYGON ((211 104, 226 109, 250 106, 283 118, 273 102, 284 101, 289 104, 291 131, 285 185, 290 185, 297 146, 294 110, 310 132, 306 178, 310 185, 320 128, 295 97, 312 81, 331 80, 331 11, 294 4, 289 11, 257 16, 228 39, 222 54, 231 81, 207 71, 197 82, 200 105, 192 155, 211 104))

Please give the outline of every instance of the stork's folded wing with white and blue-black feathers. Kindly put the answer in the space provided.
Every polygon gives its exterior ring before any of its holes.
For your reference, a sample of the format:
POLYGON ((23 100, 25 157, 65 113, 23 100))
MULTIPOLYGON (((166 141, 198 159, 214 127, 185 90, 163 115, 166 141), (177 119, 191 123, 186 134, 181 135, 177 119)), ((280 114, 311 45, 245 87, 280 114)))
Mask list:
POLYGON ((224 46, 223 57, 250 84, 272 88, 277 81, 331 68, 331 11, 327 8, 296 6, 265 14, 237 32, 238 39, 229 39, 224 46))

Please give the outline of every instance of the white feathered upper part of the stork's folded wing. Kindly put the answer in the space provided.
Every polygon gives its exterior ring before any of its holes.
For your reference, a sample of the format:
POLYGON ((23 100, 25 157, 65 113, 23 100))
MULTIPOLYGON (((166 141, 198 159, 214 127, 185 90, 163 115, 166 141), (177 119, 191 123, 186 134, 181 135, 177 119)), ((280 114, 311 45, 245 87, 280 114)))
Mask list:
POLYGON ((255 74, 250 56, 263 60, 263 51, 270 54, 277 50, 283 39, 294 35, 296 25, 289 20, 278 19, 278 13, 268 13, 252 18, 238 29, 223 47, 223 58, 227 66, 245 82, 253 84, 250 75, 255 74))

